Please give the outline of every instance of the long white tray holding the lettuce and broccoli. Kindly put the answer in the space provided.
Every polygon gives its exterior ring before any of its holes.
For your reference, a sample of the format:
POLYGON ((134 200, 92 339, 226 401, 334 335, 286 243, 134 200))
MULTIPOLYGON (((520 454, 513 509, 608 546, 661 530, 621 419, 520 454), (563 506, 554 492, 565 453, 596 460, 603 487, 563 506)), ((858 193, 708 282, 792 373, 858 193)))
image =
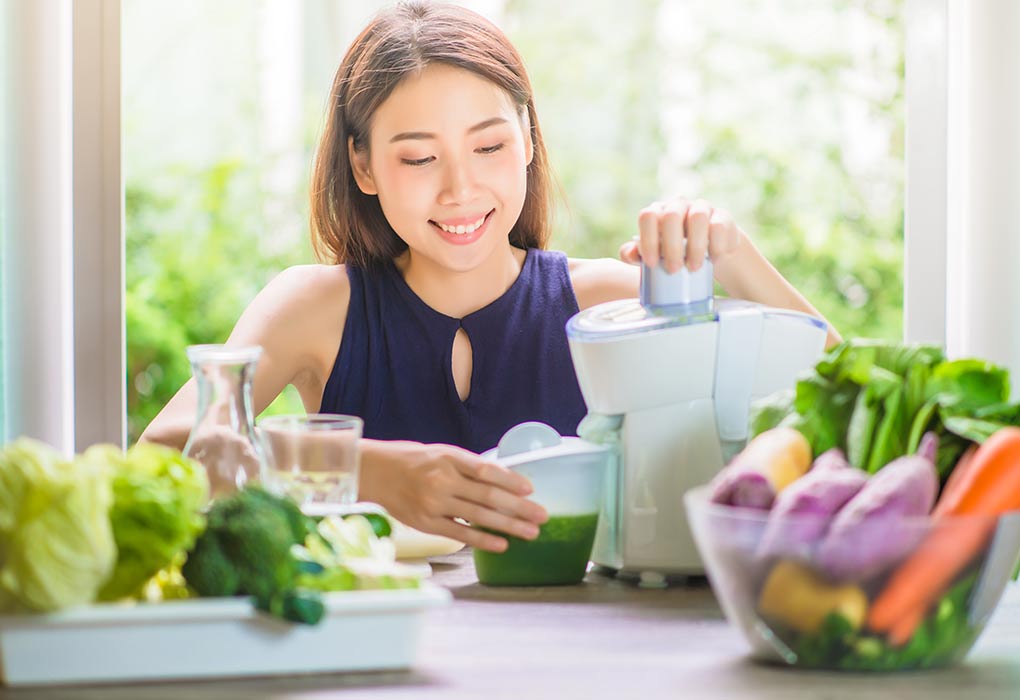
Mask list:
POLYGON ((424 611, 450 592, 351 591, 324 597, 316 626, 253 609, 247 598, 91 605, 0 617, 8 686, 404 668, 424 611))

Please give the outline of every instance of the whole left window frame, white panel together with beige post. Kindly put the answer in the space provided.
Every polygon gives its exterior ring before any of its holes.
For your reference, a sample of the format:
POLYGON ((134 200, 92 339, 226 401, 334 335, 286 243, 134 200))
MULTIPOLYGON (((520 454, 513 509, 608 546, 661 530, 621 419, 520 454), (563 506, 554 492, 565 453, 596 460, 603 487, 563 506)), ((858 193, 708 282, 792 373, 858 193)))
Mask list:
POLYGON ((4 431, 125 435, 119 0, 2 0, 4 431))

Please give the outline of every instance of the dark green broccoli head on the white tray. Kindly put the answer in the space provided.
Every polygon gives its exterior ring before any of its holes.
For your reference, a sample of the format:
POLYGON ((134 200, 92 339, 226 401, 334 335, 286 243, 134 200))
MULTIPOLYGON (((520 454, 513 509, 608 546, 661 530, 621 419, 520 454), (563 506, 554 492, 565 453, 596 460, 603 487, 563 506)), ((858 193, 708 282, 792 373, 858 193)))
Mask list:
POLYGON ((315 594, 295 593, 299 564, 291 554, 305 541, 307 519, 293 501, 255 487, 217 500, 182 568, 185 580, 201 596, 249 595, 270 614, 314 623, 321 601, 316 616, 315 594))

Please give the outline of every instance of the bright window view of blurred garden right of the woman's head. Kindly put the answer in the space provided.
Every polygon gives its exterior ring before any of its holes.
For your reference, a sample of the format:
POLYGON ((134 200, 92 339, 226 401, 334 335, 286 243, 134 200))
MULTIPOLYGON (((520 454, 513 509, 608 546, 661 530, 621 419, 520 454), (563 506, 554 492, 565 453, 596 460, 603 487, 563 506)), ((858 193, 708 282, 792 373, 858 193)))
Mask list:
POLYGON ((902 0, 543 7, 505 26, 567 194, 556 247, 615 255, 640 207, 702 197, 845 337, 902 338, 902 0))

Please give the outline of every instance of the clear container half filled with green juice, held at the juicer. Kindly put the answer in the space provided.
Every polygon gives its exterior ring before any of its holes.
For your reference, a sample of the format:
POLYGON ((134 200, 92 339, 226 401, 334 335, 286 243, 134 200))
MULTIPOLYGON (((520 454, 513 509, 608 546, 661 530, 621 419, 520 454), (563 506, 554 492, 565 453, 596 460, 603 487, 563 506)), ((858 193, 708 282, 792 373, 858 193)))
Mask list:
POLYGON ((509 547, 501 553, 474 550, 478 581, 487 586, 579 584, 595 544, 611 448, 562 437, 545 423, 524 422, 482 456, 526 477, 534 489, 529 498, 545 507, 549 519, 534 540, 487 530, 506 538, 509 547))

